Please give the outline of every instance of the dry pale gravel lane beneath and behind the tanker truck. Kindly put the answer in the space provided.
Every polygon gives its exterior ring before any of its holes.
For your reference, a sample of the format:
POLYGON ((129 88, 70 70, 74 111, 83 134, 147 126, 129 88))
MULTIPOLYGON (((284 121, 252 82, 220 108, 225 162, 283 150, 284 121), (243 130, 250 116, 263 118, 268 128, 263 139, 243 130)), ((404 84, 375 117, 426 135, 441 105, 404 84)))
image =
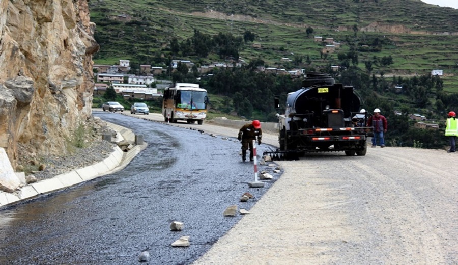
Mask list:
MULTIPOLYGON (((277 146, 277 135, 263 142, 277 146)), ((284 174, 195 264, 458 264, 457 159, 387 147, 276 162, 284 174)))

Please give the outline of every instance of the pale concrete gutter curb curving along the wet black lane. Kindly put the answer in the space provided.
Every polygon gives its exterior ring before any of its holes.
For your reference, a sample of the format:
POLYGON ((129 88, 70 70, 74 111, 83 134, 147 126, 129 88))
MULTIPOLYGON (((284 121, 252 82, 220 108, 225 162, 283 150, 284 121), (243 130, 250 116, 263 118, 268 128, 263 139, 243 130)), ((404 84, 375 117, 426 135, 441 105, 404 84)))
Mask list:
MULTIPOLYGON (((107 122, 107 124, 113 130, 117 131, 117 142, 122 140, 135 142, 135 134, 132 130, 110 122, 107 122)), ((0 207, 21 200, 31 199, 41 194, 62 190, 78 183, 119 171, 125 168, 147 146, 148 144, 144 142, 143 145, 136 145, 128 152, 123 152, 121 148, 116 146, 113 147, 113 152, 105 160, 94 165, 32 183, 19 188, 15 193, 0 191, 0 207)))

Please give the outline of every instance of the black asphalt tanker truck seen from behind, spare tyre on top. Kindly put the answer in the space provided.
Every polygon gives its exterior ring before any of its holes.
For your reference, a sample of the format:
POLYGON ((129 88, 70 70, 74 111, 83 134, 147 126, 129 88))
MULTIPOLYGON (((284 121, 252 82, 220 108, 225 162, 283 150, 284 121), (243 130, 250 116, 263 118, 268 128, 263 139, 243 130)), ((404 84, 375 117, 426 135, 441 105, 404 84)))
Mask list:
MULTIPOLYGON (((280 108, 279 98, 275 107, 280 108)), ((337 84, 325 73, 307 73, 302 88, 287 95, 284 114, 276 114, 280 148, 264 154, 274 160, 309 152, 365 155, 373 127, 366 126, 369 114, 361 107, 362 99, 352 86, 337 84)))

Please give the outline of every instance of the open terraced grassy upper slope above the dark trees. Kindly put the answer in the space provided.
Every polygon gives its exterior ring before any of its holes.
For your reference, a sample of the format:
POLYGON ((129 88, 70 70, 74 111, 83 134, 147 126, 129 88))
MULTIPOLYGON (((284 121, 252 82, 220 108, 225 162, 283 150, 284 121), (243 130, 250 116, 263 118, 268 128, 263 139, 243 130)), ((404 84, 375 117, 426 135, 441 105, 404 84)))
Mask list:
POLYGON ((359 38, 377 36, 386 42, 381 52, 361 53, 360 67, 364 68, 363 61, 374 56, 391 55, 393 65, 383 69, 376 67, 375 70, 413 75, 444 69, 446 74, 456 75, 444 76, 445 90, 458 92, 458 53, 455 52, 458 35, 424 34, 425 31, 434 34, 458 32, 458 10, 427 5, 420 0, 359 0, 359 3, 354 0, 104 0, 90 2, 90 9, 91 20, 97 24, 97 41, 101 45, 94 60, 100 64, 116 64, 119 59, 154 64, 152 57, 155 52, 164 52, 163 48, 172 37, 183 40, 193 35, 193 29, 198 29, 206 34, 231 32, 241 36, 246 30, 256 33, 255 42, 261 43, 263 49, 256 50, 247 45, 241 52, 246 61, 261 57, 274 66, 279 64, 281 57, 309 56, 313 60, 312 66, 323 66, 337 64, 337 54, 321 60, 322 45, 313 42, 313 35, 333 37, 342 44, 339 51, 347 51, 345 41, 354 38, 352 26, 355 24, 358 28, 375 21, 383 25, 403 25, 411 31, 423 33, 358 32, 359 38), (246 15, 245 18, 263 22, 191 14, 209 10, 246 15), (141 21, 141 25, 109 19, 122 13, 141 21), (310 36, 305 34, 307 26, 314 29, 310 36))

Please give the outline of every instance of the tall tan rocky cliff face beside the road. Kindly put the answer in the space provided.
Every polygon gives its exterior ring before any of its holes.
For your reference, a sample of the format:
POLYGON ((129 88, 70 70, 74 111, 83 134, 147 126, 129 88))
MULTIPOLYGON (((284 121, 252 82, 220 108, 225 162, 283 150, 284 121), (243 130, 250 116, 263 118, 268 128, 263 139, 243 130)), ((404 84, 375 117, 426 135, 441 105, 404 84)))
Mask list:
POLYGON ((0 147, 13 168, 23 152, 65 154, 92 116, 89 18, 87 0, 0 0, 0 147))

